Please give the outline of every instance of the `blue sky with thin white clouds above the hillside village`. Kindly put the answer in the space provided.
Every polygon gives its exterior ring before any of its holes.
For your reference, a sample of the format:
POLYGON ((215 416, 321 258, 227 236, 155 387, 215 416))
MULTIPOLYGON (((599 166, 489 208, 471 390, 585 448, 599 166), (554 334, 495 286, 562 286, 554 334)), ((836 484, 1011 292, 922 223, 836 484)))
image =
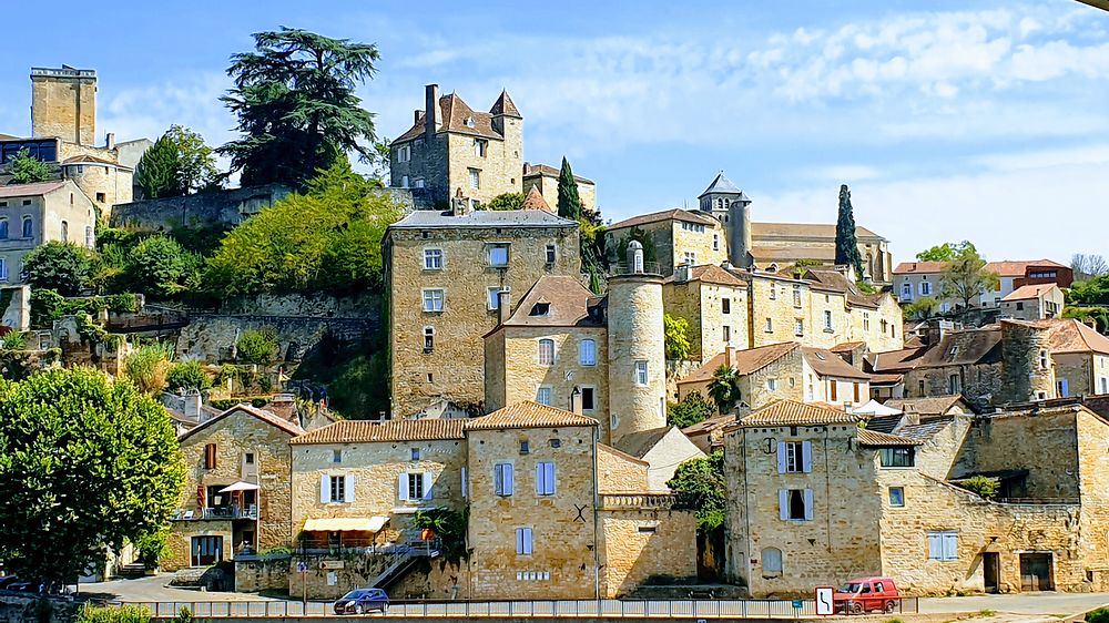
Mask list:
POLYGON ((525 160, 566 155, 606 219, 693 207, 722 170, 755 221, 834 223, 848 184, 896 261, 1109 255, 1109 12, 1074 0, 4 4, 50 29, 4 29, 0 133, 30 132, 29 69, 67 63, 98 71, 101 136, 222 144, 228 57, 284 25, 377 44, 383 139, 425 84, 476 110, 507 89, 525 160))

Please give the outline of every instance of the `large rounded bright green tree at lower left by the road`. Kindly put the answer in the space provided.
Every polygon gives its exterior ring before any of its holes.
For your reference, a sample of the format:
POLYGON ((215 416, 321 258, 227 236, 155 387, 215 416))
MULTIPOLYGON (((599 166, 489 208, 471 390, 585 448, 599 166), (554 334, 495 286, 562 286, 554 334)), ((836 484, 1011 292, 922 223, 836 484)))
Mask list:
POLYGON ((0 561, 72 582, 163 527, 184 463, 165 408, 128 380, 52 368, 0 380, 0 561))

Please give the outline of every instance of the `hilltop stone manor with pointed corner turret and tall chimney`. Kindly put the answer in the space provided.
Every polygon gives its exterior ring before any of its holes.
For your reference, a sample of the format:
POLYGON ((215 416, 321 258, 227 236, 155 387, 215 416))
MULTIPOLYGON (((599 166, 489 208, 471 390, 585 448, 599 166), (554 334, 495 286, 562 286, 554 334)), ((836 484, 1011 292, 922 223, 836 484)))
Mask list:
POLYGON ((413 188, 418 204, 438 208, 456 196, 488 203, 523 187, 523 115, 507 91, 489 112, 471 109, 438 84, 425 89, 425 108, 389 145, 390 186, 413 188))

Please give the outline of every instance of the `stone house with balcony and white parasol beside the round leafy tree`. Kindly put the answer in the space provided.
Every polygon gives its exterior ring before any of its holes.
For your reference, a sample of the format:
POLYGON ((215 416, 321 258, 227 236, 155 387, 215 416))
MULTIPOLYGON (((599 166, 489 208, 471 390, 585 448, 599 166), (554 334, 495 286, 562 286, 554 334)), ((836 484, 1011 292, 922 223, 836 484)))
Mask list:
POLYGON ((204 568, 244 547, 286 547, 291 531, 289 440, 299 426, 248 405, 181 433, 185 483, 170 521, 162 569, 204 568))

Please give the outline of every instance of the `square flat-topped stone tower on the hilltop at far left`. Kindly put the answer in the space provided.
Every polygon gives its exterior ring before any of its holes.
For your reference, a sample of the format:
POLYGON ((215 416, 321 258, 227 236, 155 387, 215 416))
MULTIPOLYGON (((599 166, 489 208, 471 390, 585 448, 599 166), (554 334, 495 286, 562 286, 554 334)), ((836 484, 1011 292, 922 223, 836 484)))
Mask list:
POLYGON ((90 69, 31 69, 31 135, 59 136, 68 143, 94 145, 96 72, 90 69))

